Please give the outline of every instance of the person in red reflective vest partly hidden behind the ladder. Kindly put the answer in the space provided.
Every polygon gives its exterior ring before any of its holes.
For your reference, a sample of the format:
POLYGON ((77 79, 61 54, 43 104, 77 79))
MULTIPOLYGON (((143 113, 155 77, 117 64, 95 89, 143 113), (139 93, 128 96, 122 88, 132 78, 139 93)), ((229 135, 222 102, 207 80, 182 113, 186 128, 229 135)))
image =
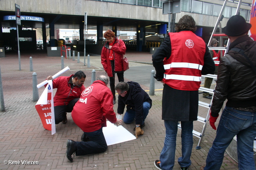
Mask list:
MULTIPOLYGON (((211 46, 216 47, 216 46, 218 46, 218 43, 219 42, 215 38, 213 38, 212 42, 211 42, 211 46)), ((220 57, 218 56, 218 54, 216 53, 215 50, 209 50, 209 52, 212 56, 212 60, 220 61, 220 57)), ((217 74, 218 73, 218 66, 219 66, 219 64, 215 64, 215 71, 213 73, 210 73, 210 74, 217 74)), ((213 80, 213 78, 206 77, 204 79, 204 88, 211 88, 212 80, 213 80)), ((203 93, 203 98, 212 99, 212 95, 208 92, 204 92, 203 93)))

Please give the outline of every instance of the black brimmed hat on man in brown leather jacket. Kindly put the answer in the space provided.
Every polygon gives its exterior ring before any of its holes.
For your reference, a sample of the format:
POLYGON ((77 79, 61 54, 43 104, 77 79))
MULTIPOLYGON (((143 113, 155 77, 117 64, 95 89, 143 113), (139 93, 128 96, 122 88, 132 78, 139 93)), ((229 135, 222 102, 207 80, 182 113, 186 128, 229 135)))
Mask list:
POLYGON ((228 36, 240 36, 249 31, 251 27, 252 25, 247 23, 244 17, 240 15, 234 15, 229 18, 227 26, 222 29, 222 32, 228 36))

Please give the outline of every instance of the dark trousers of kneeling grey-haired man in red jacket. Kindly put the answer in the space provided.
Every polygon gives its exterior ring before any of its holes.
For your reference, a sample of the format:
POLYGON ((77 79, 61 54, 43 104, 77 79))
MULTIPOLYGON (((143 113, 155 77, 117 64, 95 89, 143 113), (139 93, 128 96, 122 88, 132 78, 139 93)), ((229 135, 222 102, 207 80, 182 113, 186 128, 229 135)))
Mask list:
POLYGON ((106 143, 104 134, 102 132, 102 128, 94 132, 84 132, 84 134, 86 134, 86 136, 88 136, 88 138, 91 141, 76 142, 77 144, 76 156, 101 153, 101 152, 105 152, 108 149, 108 145, 106 143))

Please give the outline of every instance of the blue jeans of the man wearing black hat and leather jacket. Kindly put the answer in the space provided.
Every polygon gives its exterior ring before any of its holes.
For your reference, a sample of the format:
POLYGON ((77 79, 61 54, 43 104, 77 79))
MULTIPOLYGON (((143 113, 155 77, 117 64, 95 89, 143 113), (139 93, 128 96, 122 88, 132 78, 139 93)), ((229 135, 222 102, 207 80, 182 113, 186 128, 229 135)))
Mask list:
POLYGON ((225 107, 217 128, 216 138, 208 152, 204 170, 220 170, 224 152, 237 137, 239 170, 255 170, 253 143, 256 136, 256 112, 225 107))

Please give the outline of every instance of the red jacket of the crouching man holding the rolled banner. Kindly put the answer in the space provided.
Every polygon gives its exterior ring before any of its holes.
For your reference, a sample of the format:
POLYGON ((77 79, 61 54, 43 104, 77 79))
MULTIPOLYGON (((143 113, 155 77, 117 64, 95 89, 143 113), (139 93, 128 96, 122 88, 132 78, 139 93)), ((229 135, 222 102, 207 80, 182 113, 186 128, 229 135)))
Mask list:
MULTIPOLYGON (((68 76, 60 76, 54 80, 52 80, 52 88, 57 88, 55 96, 53 98, 54 106, 63 106, 67 105, 71 100, 75 98, 79 98, 82 91, 84 91, 85 87, 82 85, 81 87, 74 86, 71 88, 68 81, 72 78, 74 74, 68 76)), ((45 85, 47 86, 47 84, 45 85)))

